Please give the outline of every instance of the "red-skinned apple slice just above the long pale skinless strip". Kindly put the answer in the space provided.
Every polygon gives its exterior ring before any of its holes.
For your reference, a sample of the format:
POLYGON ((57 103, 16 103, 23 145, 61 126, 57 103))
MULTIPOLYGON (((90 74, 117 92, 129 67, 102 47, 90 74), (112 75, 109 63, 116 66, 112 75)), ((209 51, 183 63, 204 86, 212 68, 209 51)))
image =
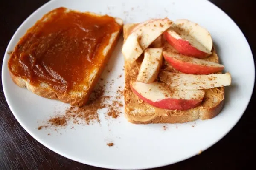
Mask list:
POLYGON ((187 74, 212 74, 224 69, 224 65, 180 54, 171 45, 164 48, 163 57, 177 71, 187 74))

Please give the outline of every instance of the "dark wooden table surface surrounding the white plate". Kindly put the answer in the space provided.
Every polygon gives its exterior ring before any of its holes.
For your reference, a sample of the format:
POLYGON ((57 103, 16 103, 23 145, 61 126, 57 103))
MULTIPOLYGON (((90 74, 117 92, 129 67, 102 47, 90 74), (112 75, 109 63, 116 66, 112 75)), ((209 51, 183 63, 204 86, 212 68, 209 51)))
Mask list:
MULTIPOLYGON (((211 0, 241 28, 256 56, 256 10, 253 0, 211 0)), ((0 3, 0 60, 16 29, 47 0, 2 0, 0 3)), ((218 24, 218 23, 216 23, 218 24)), ((221 24, 221 23, 219 23, 221 24)), ((241 56, 242 57, 242 56, 241 56)), ((0 170, 101 169, 80 164, 52 152, 33 139, 12 115, 0 88, 0 170)), ((248 169, 256 154, 256 94, 238 124, 221 141, 185 161, 157 169, 248 169)))

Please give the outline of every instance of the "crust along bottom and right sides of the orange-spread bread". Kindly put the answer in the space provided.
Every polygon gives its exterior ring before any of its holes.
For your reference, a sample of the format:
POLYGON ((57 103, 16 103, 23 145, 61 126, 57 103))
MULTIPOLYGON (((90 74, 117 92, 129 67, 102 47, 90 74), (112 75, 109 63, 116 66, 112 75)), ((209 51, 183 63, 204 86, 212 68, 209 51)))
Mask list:
MULTIPOLYGON (((92 15, 98 15, 90 12, 85 12, 92 15)), ((50 15, 50 12, 49 12, 50 15)), ((100 16, 100 15, 99 15, 100 16)), ((43 18, 44 19, 44 18, 43 18)), ((122 32, 122 20, 120 18, 115 18, 116 23, 119 24, 120 29, 113 33, 115 34, 114 40, 111 43, 111 47, 106 51, 105 57, 101 63, 101 66, 97 69, 96 73, 94 74, 93 79, 91 79, 90 86, 87 87, 86 91, 83 91, 82 95, 78 95, 76 93, 70 94, 70 93, 64 93, 64 94, 58 94, 56 93, 51 87, 49 87, 47 84, 41 83, 40 85, 32 85, 29 83, 29 81, 22 79, 19 76, 15 76, 12 74, 12 71, 9 71, 10 76, 15 82, 16 85, 20 86, 21 88, 27 88, 29 91, 32 91, 34 94, 37 94, 38 96, 48 98, 48 99, 55 99, 59 100, 64 103, 69 103, 73 106, 82 106, 85 105, 90 97, 91 92, 93 91, 94 87, 96 86, 97 82, 99 81, 99 77, 101 76, 106 63, 109 61, 111 54, 113 53, 114 48, 116 47, 116 43, 119 40, 120 34, 122 32)))

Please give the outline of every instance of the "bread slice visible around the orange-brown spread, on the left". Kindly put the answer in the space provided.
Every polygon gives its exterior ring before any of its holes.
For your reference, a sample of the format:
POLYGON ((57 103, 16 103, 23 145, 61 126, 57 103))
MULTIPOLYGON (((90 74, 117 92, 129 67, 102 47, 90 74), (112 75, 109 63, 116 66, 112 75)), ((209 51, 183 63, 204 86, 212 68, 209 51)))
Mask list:
MULTIPOLYGON (((41 18, 41 20, 38 20, 37 23, 35 23, 32 28, 30 28, 26 34, 33 34, 34 31, 38 31, 38 24, 44 23, 49 18, 55 15, 56 10, 65 10, 65 13, 74 12, 67 8, 57 8, 55 10, 50 11, 49 13, 45 14, 44 17, 41 18)), ((79 11, 75 11, 79 12, 79 11)), ((91 16, 95 17, 102 17, 102 15, 94 14, 91 12, 85 12, 85 14, 89 14, 91 16)), ((69 103, 70 105, 76 105, 76 106, 82 106, 87 103, 87 100, 89 99, 89 96, 91 92, 93 91, 93 88, 95 87, 96 83, 98 82, 98 79, 100 75, 102 74, 102 71, 105 68, 106 63, 108 62, 109 58, 111 57, 111 54, 116 46, 117 41, 119 40, 120 34, 122 32, 122 26, 123 21, 120 18, 115 18, 116 25, 118 28, 117 31, 113 32, 109 36, 110 38, 105 38, 102 40, 102 43, 100 44, 100 47, 97 49, 101 49, 102 51, 96 54, 94 57, 96 57, 96 62, 91 63, 92 69, 89 71, 85 71, 86 73, 86 80, 81 81, 80 83, 77 83, 76 85, 73 85, 72 88, 68 92, 59 93, 58 90, 55 88, 52 88, 47 82, 40 82, 39 84, 32 84, 30 83, 30 79, 26 79, 18 74, 17 66, 20 65, 19 57, 17 57, 16 54, 18 53, 20 45, 26 44, 26 42, 29 42, 31 39, 23 40, 23 38, 20 39, 20 41, 17 43, 17 46, 15 47, 14 51, 10 55, 8 68, 9 72, 11 74, 13 82, 15 82, 18 86, 22 88, 27 88, 29 91, 32 91, 33 93, 49 98, 49 99, 57 99, 61 102, 69 103), (12 62, 10 60, 12 59, 12 62)), ((81 28, 82 29, 82 28, 81 28)), ((31 36, 30 36, 31 37, 31 36)), ((84 37, 86 38, 86 37, 84 37)), ((37 47, 35 47, 37 48, 37 47)), ((75 56, 70 56, 75 57, 75 56)), ((86 57, 86 56, 84 56, 86 57)), ((86 69, 86 66, 84 66, 84 69, 86 69)), ((69 72, 67 71, 67 74, 69 72)))

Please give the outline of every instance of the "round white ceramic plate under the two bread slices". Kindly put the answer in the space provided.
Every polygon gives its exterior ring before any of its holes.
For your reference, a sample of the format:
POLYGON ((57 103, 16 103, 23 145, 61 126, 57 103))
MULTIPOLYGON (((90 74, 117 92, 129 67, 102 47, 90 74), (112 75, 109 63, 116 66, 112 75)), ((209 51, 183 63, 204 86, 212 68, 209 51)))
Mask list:
MULTIPOLYGON (((122 37, 111 57, 105 80, 123 74, 122 37)), ((107 68, 106 68, 107 69, 107 68)), ((8 105, 22 127, 41 144, 69 159, 97 167, 142 169, 173 164, 206 150, 223 138, 239 121, 250 101, 254 86, 253 56, 244 35, 223 11, 207 0, 52 0, 35 11, 17 29, 3 60, 3 90, 8 105), (44 120, 54 116, 56 108, 67 104, 45 99, 19 88, 12 82, 7 68, 8 51, 36 20, 57 7, 91 11, 120 17, 124 23, 142 22, 150 18, 186 18, 207 28, 212 34, 225 72, 232 75, 232 85, 226 88, 225 106, 213 119, 184 124, 134 125, 123 114, 117 119, 105 119, 105 109, 99 112, 101 122, 93 125, 73 125, 55 131, 38 130, 44 120), (200 8, 199 8, 200 6, 200 8), (163 130, 166 126, 166 130, 163 130), (73 127, 73 128, 72 128, 73 127), (50 135, 47 135, 50 134, 50 135), (112 147, 106 143, 113 142, 112 147)), ((124 86, 124 76, 116 80, 111 93, 124 86)), ((123 109, 122 109, 123 111, 123 109)))

